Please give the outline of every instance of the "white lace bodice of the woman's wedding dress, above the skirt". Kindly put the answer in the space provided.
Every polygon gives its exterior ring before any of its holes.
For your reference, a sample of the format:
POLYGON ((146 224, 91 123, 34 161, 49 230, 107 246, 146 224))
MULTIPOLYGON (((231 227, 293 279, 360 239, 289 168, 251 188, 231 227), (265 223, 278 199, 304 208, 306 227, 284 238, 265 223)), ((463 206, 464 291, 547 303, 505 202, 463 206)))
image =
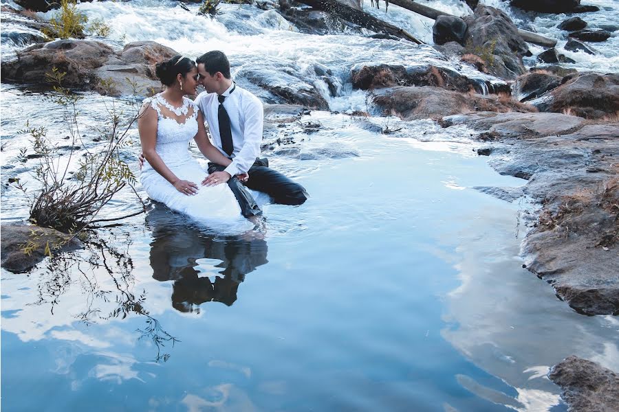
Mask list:
MULTIPOLYGON (((183 105, 175 108, 161 94, 144 100, 157 112, 157 142, 155 151, 171 168, 191 158, 188 142, 195 137, 198 130, 196 104, 183 98, 183 105)), ((148 162, 144 168, 151 168, 148 162)))

